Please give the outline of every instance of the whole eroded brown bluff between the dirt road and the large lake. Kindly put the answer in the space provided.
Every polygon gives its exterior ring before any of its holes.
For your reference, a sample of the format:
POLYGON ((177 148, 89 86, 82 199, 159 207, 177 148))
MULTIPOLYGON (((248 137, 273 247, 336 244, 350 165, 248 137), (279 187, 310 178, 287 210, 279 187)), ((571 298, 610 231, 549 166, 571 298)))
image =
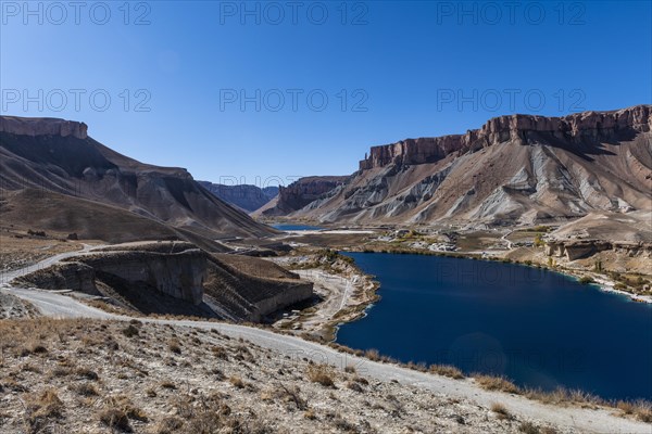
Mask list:
POLYGON ((112 245, 67 258, 16 283, 103 296, 141 314, 231 321, 263 321, 313 297, 312 282, 274 263, 208 254, 187 242, 112 245))

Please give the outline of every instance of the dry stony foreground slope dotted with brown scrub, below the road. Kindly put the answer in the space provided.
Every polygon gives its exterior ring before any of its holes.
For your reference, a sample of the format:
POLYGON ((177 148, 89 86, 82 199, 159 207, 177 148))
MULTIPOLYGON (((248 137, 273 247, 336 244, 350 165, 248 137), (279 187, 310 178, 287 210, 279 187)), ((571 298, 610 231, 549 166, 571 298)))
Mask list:
POLYGON ((215 330, 3 320, 0 355, 2 433, 502 433, 526 422, 215 330))

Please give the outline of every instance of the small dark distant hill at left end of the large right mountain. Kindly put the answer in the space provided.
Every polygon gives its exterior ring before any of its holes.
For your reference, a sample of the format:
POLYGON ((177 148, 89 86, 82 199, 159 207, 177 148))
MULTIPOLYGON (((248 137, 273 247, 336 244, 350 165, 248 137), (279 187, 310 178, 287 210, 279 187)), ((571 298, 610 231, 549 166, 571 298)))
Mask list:
POLYGON ((334 189, 343 186, 348 178, 339 176, 301 178, 288 187, 280 187, 278 197, 269 202, 268 206, 258 209, 254 215, 285 216, 323 199, 334 189))

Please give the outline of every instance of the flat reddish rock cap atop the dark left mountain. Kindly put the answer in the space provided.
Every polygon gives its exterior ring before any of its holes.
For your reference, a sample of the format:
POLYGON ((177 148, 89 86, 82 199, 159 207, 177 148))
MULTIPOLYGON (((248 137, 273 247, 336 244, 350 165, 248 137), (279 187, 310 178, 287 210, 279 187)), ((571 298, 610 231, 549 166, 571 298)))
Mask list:
POLYGON ((74 120, 52 117, 0 116, 0 132, 17 136, 73 136, 77 139, 88 137, 88 126, 74 120))

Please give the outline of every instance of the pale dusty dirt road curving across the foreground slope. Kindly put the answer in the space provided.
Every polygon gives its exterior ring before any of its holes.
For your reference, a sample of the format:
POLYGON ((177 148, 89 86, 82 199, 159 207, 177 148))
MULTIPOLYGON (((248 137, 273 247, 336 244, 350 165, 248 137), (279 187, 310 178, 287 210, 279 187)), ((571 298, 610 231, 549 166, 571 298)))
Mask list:
MULTIPOLYGON (((13 271, 12 279, 30 272, 30 270, 38 269, 38 267, 42 268, 47 265, 52 265, 66 257, 66 255, 72 256, 74 254, 78 254, 78 252, 73 254, 57 255, 35 266, 13 271)), ((130 317, 117 316, 87 306, 62 293, 17 289, 11 286, 10 282, 4 283, 0 288, 0 291, 4 291, 9 294, 30 302, 34 306, 40 309, 43 315, 50 317, 84 317, 113 320, 131 319, 130 317)), ((215 329, 230 337, 242 337, 262 347, 276 350, 279 353, 279 356, 283 355, 296 358, 306 357, 316 362, 324 362, 338 368, 343 368, 347 365, 353 365, 361 374, 374 378, 378 381, 389 382, 396 380, 401 384, 410 384, 435 393, 443 393, 451 397, 466 398, 482 407, 490 407, 493 403, 500 403, 510 409, 510 411, 514 414, 521 414, 526 418, 546 421, 559 426, 572 427, 580 433, 652 434, 651 424, 619 418, 612 414, 612 411, 614 410, 589 410, 577 407, 563 408, 557 406, 548 406, 526 399, 518 395, 485 391, 475 385, 473 380, 452 380, 444 376, 413 371, 393 365, 374 362, 364 358, 338 353, 328 346, 308 342, 290 335, 277 334, 267 330, 221 322, 163 320, 149 318, 138 319, 143 322, 173 324, 204 330, 215 329)))

